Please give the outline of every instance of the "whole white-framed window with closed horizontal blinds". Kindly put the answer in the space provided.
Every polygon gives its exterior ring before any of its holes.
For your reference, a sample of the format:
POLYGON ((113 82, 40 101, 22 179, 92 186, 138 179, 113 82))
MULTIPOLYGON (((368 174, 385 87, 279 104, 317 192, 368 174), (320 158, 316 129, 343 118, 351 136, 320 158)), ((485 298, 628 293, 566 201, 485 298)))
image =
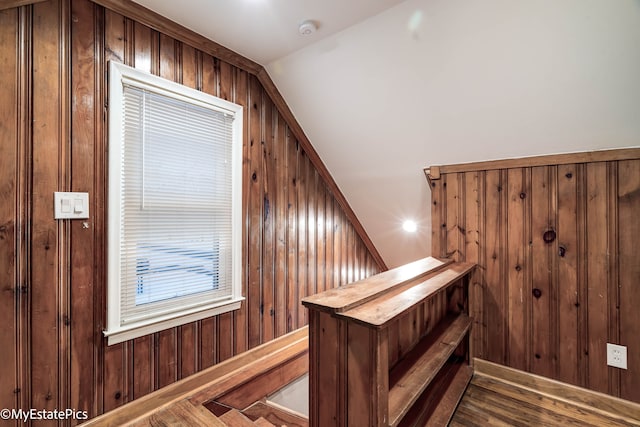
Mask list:
POLYGON ((238 309, 242 107, 109 68, 108 343, 238 309))

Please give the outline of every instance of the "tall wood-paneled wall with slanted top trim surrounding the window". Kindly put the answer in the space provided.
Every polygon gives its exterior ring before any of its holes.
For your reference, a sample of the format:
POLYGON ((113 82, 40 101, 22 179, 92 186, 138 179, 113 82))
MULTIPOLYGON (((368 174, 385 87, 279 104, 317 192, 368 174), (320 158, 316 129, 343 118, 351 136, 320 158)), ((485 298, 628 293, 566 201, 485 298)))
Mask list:
POLYGON ((0 7, 0 408, 94 417, 302 327, 302 297, 386 269, 262 67, 130 2, 13 3, 0 7), (108 61, 245 107, 245 303, 113 346, 108 61), (89 192, 90 219, 54 220, 55 191, 89 192))

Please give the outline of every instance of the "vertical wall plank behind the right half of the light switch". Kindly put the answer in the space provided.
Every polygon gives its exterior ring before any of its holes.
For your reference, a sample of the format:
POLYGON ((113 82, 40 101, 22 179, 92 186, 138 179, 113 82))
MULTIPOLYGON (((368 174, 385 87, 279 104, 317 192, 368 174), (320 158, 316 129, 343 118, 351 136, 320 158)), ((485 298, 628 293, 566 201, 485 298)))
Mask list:
MULTIPOLYGON (((96 147, 101 146, 101 134, 95 118, 101 111, 97 79, 100 74, 96 67, 96 8, 86 1, 72 2, 71 28, 71 190, 88 192, 91 197, 89 211, 92 217, 97 209, 96 147)), ((70 322, 71 322, 71 369, 70 402, 78 409, 95 414, 93 398, 96 355, 94 342, 94 293, 95 272, 93 265, 97 223, 90 221, 70 221, 70 322), (89 224, 89 227, 83 223, 89 224)))

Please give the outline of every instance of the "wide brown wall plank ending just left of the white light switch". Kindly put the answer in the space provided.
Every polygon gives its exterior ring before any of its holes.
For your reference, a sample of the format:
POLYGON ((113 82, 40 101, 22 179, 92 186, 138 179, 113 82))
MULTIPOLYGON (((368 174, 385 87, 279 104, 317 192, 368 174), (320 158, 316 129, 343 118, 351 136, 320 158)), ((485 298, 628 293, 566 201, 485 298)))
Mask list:
POLYGON ((33 96, 46 99, 33 105, 33 196, 31 211, 31 259, 38 268, 31 269, 31 381, 33 407, 60 407, 58 385, 61 378, 59 308, 62 295, 60 249, 64 240, 62 227, 51 215, 52 198, 65 183, 66 152, 63 148, 64 123, 60 122, 63 78, 60 44, 61 7, 59 2, 33 6, 33 96))

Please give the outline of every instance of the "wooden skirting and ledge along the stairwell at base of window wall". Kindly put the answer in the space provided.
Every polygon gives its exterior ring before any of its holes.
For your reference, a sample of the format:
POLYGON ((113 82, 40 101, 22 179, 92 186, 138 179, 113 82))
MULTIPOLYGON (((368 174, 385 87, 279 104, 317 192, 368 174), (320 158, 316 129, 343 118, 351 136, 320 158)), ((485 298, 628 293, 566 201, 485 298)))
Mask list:
POLYGON ((83 426, 225 426, 235 412, 217 417, 207 408, 219 402, 245 408, 304 375, 308 367, 307 328, 297 329, 181 381, 165 386, 83 426))

